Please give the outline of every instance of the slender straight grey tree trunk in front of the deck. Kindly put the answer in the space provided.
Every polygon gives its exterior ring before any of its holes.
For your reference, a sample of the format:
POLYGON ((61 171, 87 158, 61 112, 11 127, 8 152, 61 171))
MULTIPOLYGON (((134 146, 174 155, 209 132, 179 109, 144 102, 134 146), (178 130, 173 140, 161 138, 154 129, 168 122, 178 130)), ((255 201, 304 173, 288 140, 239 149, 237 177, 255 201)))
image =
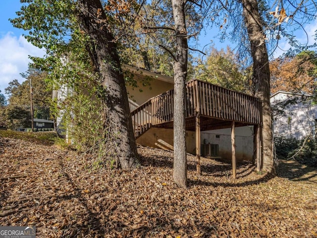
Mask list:
POLYGON ((187 32, 185 3, 171 0, 176 32, 177 55, 174 62, 174 182, 187 188, 185 80, 187 77, 187 32))

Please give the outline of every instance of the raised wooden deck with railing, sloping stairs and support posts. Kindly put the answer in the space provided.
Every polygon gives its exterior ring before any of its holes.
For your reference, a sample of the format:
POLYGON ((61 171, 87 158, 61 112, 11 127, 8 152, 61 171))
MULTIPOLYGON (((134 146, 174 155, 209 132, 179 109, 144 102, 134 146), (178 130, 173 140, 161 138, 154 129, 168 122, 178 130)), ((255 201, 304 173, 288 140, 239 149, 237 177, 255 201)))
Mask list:
MULTIPOLYGON (((136 138, 150 127, 173 128, 174 91, 151 98, 131 112, 136 138)), ((262 102, 253 96, 238 93, 200 80, 186 83, 185 125, 196 132, 197 172, 200 165, 200 132, 231 128, 232 167, 235 177, 235 127, 254 126, 254 151, 257 169, 261 169, 262 102)))

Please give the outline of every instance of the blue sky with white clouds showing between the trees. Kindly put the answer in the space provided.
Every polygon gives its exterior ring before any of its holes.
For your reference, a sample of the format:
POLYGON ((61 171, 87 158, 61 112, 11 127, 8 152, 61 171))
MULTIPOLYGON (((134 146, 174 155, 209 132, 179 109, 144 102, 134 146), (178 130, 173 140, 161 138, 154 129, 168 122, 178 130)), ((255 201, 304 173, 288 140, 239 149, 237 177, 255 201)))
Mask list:
MULTIPOLYGON (((9 22, 9 18, 16 17, 16 11, 21 7, 19 0, 2 0, 0 7, 0 91, 5 95, 4 88, 8 86, 8 83, 13 79, 17 79, 19 82, 24 81, 21 77, 21 73, 25 73, 28 70, 28 64, 30 63, 29 55, 31 56, 44 56, 45 51, 33 46, 27 42, 22 36, 27 35, 20 29, 14 28, 9 22)), ((316 42, 314 39, 315 31, 317 30, 317 21, 307 25, 305 27, 306 32, 309 35, 309 44, 316 42)), ((199 45, 204 45, 212 42, 218 49, 225 48, 226 45, 234 47, 234 42, 220 43, 212 36, 215 30, 203 34, 200 38, 199 45)), ((217 32, 218 33, 218 32, 217 32)), ((298 32, 297 35, 301 42, 307 42, 305 34, 298 32)), ((237 44, 238 42, 236 42, 237 44)), ((285 40, 281 40, 279 48, 276 49, 274 56, 279 56, 284 53, 284 50, 289 48, 289 44, 285 40)), ((5 95, 7 97, 7 95, 5 95)))

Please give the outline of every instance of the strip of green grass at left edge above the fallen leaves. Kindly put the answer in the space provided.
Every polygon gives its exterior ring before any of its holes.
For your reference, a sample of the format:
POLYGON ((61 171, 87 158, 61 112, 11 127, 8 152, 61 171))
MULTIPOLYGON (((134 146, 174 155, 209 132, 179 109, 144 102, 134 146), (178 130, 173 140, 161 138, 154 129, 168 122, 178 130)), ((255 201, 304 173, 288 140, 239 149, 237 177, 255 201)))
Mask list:
POLYGON ((0 137, 34 141, 52 145, 54 144, 56 138, 58 138, 56 131, 24 132, 13 130, 0 130, 0 137))

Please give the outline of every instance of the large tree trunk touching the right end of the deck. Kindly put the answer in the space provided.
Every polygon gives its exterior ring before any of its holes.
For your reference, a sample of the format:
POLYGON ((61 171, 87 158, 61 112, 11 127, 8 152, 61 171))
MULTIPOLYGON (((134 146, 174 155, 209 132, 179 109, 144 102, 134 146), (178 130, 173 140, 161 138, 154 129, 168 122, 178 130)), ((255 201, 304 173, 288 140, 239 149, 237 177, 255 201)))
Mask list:
POLYGON ((255 96, 263 102, 263 169, 275 174, 272 153, 272 130, 269 104, 269 66, 262 21, 257 0, 242 0, 244 21, 248 30, 253 58, 255 96))

